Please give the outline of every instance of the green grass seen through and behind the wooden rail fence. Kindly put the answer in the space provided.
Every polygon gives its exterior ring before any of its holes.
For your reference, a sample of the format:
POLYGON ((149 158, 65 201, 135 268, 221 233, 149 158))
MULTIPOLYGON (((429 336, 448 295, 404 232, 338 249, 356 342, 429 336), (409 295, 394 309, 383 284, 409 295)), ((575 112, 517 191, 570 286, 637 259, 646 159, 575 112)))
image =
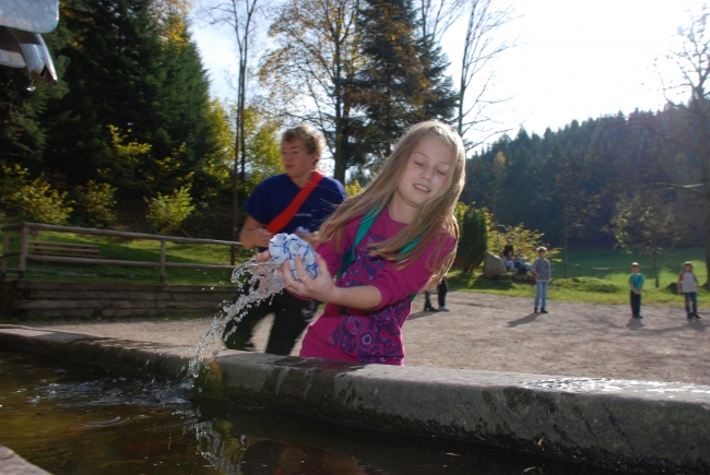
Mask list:
MULTIPOLYGON (((127 261, 159 262, 161 244, 156 240, 127 240, 115 237, 73 235, 68 233, 40 231, 32 240, 95 244, 102 256, 108 259, 127 261)), ((20 233, 10 234, 10 250, 20 249, 20 233)), ((228 264, 229 248, 213 245, 182 245, 170 244, 166 246, 167 262, 228 264)), ((251 251, 239 248, 237 263, 251 257, 251 251)), ((19 258, 8 259, 10 271, 17 269, 19 258)), ((230 271, 210 269, 166 269, 166 281, 169 284, 205 284, 220 285, 230 282, 230 271)), ((16 274, 9 273, 8 278, 15 278, 16 274)), ((68 281, 68 282, 123 282, 157 284, 158 268, 139 268, 131 265, 106 264, 64 264, 27 261, 27 281, 68 281)))

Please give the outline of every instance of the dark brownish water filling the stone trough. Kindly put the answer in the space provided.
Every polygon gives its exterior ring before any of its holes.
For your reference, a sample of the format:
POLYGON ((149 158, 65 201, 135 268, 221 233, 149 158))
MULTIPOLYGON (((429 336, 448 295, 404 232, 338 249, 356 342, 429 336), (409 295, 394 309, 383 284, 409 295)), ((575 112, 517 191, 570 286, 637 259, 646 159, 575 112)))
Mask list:
POLYGON ((189 384, 2 352, 0 444, 57 475, 611 473, 461 441, 236 407, 189 384))

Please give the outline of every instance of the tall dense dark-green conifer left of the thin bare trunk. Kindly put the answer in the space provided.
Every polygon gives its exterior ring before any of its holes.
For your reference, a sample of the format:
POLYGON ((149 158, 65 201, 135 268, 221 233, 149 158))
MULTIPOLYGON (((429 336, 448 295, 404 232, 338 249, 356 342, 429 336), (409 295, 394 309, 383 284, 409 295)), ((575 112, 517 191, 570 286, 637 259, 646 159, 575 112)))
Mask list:
POLYGON ((175 4, 68 0, 60 9, 73 35, 59 51, 69 58, 70 91, 45 114, 45 163, 68 186, 90 180, 118 186, 119 210, 133 211, 145 198, 189 186, 203 168, 202 157, 216 146, 208 120, 209 83, 175 4), (113 182, 126 178, 111 173, 116 134, 126 144, 150 146, 131 165, 137 168, 130 187, 113 182))

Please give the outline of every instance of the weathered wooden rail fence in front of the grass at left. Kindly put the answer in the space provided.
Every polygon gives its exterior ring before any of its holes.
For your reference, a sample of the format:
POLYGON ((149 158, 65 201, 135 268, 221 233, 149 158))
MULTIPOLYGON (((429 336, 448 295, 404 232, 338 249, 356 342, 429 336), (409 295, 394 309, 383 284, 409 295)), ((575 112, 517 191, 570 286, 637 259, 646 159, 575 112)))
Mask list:
POLYGON ((142 233, 125 233, 119 230, 110 229, 90 229, 83 227, 71 227, 71 226, 56 226, 51 224, 38 224, 38 223, 17 223, 2 228, 4 231, 4 240, 2 244, 2 265, 0 269, 0 281, 4 281, 8 271, 8 258, 19 256, 20 262, 17 264, 17 278, 23 281, 25 278, 25 273, 27 272, 27 260, 42 261, 42 262, 66 262, 73 264, 115 264, 115 265, 134 265, 142 268, 159 268, 158 277, 161 284, 165 284, 165 270, 167 268, 187 268, 187 269, 222 269, 222 270, 232 270, 234 265, 226 264, 189 264, 182 262, 167 262, 165 256, 165 249, 167 242, 176 244, 192 244, 192 245, 218 245, 227 246, 232 249, 237 246, 241 246, 240 242, 236 241, 221 241, 214 239, 193 239, 193 238, 181 238, 174 236, 158 236, 152 234, 142 234, 142 233), (159 262, 149 262, 149 261, 125 261, 118 259, 105 259, 105 258, 80 258, 72 256, 43 256, 29 253, 29 235, 32 231, 39 230, 49 230, 55 233, 73 233, 79 235, 91 235, 91 236, 109 236, 109 237, 120 237, 125 239, 150 239, 161 241, 161 260, 159 262), (19 251, 10 251, 10 233, 20 231, 22 234, 22 239, 20 244, 19 251))

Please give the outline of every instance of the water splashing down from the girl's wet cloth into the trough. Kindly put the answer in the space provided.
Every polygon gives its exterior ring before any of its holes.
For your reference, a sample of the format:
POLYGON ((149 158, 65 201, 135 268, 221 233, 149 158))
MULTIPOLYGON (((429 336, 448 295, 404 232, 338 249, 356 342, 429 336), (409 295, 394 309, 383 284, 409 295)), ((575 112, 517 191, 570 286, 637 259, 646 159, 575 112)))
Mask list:
POLYGON ((198 342, 194 356, 188 365, 189 376, 197 379, 200 375, 200 368, 209 369, 211 357, 217 356, 220 351, 214 349, 208 358, 203 355, 212 348, 216 339, 226 341, 236 331, 237 324, 250 308, 283 292, 286 282, 280 272, 281 265, 281 263, 274 261, 257 262, 252 258, 234 270, 232 282, 237 284, 238 289, 241 290, 239 298, 234 304, 225 305, 222 308, 222 311, 214 317, 212 324, 198 342), (242 280, 246 281, 242 282, 242 280), (227 323, 233 320, 236 324, 227 334, 224 334, 227 323))

